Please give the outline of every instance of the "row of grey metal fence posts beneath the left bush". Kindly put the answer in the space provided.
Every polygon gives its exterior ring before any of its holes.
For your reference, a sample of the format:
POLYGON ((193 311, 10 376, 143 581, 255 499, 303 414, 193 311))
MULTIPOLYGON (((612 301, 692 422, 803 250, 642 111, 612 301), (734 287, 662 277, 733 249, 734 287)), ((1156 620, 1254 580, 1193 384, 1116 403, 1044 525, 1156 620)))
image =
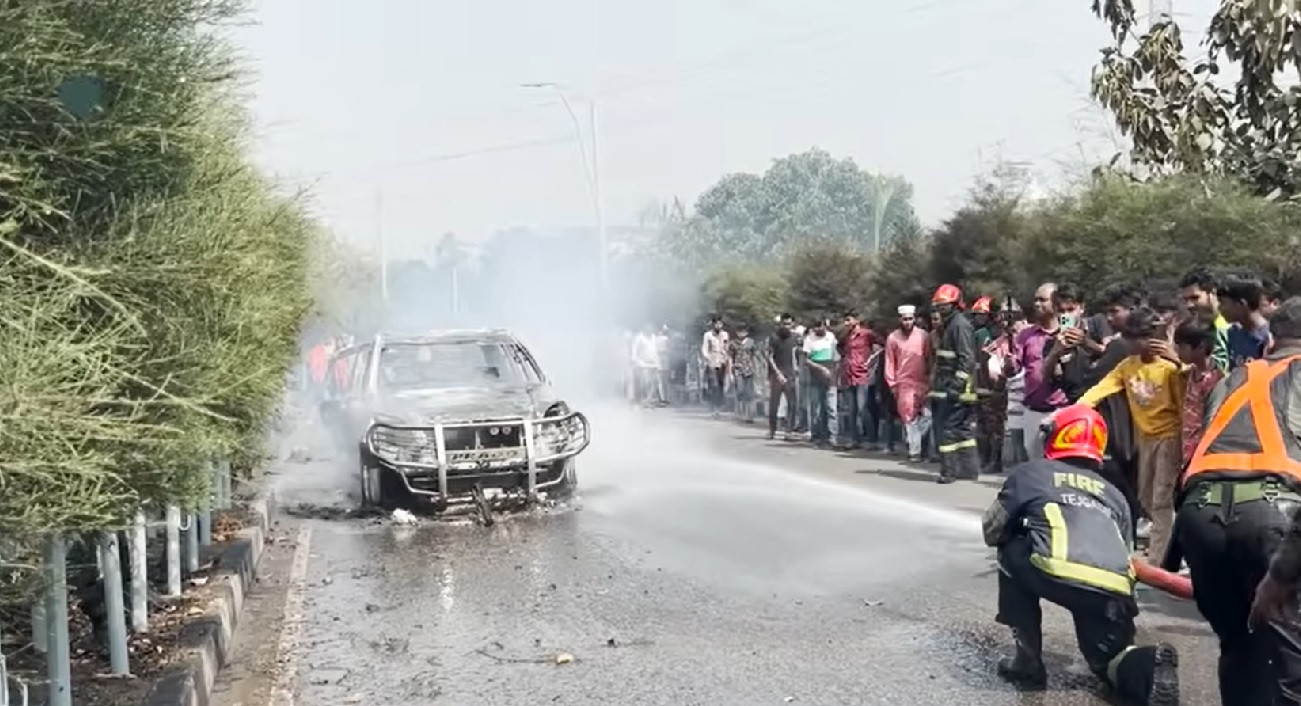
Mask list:
MULTIPOLYGON (((199 571, 199 555, 212 542, 215 510, 230 507, 230 464, 212 464, 211 491, 196 508, 170 506, 156 510, 150 519, 144 508, 120 530, 100 532, 95 538, 96 563, 105 606, 109 672, 130 675, 129 633, 150 629, 147 553, 150 536, 163 529, 165 542, 167 595, 180 598, 182 579, 199 571), (129 562, 122 566, 121 542, 126 542, 129 562), (125 573, 124 573, 125 572, 125 573), (129 579, 129 580, 124 580, 129 579), (129 589, 126 588, 129 584, 129 589), (127 616, 130 624, 127 625, 127 616)), ((52 534, 44 543, 46 590, 31 606, 31 646, 44 655, 48 706, 72 706, 72 645, 68 634, 68 546, 69 537, 52 534)), ((3 558, 0 558, 3 560, 3 558)), ((4 625, 0 625, 3 629, 4 625)), ((29 706, 29 683, 9 672, 0 654, 0 706, 29 706), (17 693, 17 701, 14 701, 17 693)))

